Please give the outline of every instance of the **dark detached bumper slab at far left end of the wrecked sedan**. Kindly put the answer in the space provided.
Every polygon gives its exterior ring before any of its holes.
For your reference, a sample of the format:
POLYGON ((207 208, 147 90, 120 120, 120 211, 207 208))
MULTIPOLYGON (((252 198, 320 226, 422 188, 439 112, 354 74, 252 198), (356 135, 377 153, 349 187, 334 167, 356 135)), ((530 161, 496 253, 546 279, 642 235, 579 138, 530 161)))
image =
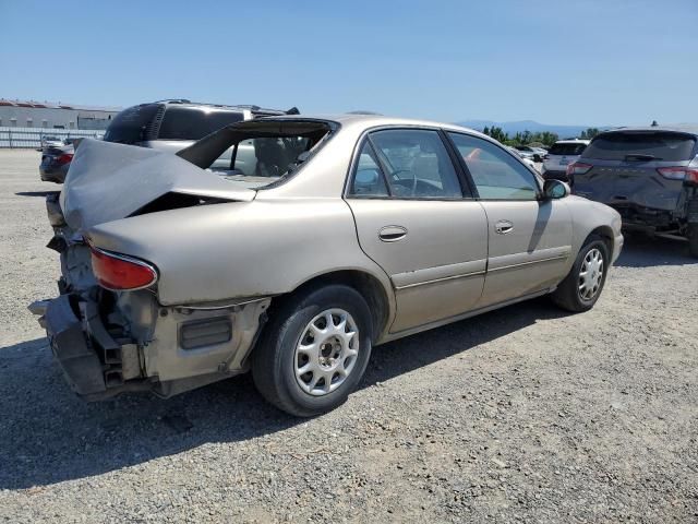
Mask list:
POLYGON ((51 350, 73 391, 82 396, 104 393, 107 386, 103 362, 89 344, 69 295, 61 295, 48 303, 45 323, 51 350))

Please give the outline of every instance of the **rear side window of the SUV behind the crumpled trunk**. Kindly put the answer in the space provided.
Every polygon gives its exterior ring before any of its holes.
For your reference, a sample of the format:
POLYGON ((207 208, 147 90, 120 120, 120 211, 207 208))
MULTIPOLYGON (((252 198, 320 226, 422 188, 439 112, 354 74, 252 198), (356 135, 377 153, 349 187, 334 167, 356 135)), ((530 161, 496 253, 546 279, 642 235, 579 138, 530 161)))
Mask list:
POLYGON ((240 111, 170 106, 165 111, 158 139, 198 140, 243 118, 240 111))

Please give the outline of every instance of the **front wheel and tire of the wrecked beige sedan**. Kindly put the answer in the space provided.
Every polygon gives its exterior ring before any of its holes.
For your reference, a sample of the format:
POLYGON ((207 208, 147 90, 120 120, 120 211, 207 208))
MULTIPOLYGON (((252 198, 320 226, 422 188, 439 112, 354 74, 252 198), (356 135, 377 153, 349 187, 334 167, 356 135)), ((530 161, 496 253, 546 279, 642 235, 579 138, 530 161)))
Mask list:
POLYGON ((579 250, 571 270, 553 291, 553 302, 575 313, 589 311, 601 296, 610 262, 609 246, 598 235, 590 235, 579 250), (598 258, 601 259, 600 267, 598 267, 598 258), (585 275, 589 275, 588 277, 581 275, 585 263, 587 264, 585 275), (583 288, 581 288, 582 285, 583 288))

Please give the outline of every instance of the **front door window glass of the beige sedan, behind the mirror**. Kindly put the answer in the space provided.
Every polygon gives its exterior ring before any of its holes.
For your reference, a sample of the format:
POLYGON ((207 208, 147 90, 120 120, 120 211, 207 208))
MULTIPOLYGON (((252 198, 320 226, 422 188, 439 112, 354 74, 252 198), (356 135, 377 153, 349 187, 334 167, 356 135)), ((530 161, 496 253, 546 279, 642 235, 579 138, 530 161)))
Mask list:
POLYGON ((448 133, 462 156, 482 200, 535 200, 538 182, 526 166, 502 147, 467 134, 448 133))

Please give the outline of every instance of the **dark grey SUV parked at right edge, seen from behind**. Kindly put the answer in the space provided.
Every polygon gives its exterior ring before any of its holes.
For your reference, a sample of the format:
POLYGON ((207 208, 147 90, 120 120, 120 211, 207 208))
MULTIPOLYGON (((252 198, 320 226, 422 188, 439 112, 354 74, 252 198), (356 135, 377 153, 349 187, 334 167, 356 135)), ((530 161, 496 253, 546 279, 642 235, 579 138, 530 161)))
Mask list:
POLYGON ((567 168, 575 193, 607 204, 627 230, 686 238, 698 257, 698 130, 634 128, 595 136, 567 168))

